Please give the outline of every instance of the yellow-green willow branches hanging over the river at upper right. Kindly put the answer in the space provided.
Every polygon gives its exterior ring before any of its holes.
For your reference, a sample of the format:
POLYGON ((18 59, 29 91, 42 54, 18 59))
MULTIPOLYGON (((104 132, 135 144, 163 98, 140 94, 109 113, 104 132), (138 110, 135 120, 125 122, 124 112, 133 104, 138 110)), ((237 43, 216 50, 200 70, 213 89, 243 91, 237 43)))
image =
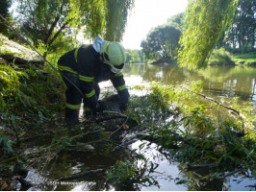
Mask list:
POLYGON ((180 39, 178 62, 201 68, 233 22, 238 0, 189 0, 185 12, 185 32, 180 39))

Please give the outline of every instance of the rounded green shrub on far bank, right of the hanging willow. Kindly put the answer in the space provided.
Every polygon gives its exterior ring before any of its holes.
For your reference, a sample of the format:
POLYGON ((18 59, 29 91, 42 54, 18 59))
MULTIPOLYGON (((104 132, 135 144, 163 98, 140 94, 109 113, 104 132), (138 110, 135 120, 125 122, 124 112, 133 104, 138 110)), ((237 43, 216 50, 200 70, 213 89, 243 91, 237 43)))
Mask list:
POLYGON ((210 65, 234 65, 235 61, 229 52, 224 48, 216 49, 213 51, 208 64, 210 65))

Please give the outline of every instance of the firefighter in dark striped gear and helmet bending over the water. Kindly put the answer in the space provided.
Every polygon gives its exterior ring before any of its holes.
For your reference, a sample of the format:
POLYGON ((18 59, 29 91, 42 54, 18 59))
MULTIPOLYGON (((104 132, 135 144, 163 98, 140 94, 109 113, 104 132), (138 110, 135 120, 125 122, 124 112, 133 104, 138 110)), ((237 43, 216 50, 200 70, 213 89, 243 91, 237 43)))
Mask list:
POLYGON ((120 99, 120 110, 128 107, 130 95, 121 72, 125 60, 125 50, 120 43, 103 40, 100 36, 95 37, 93 44, 75 48, 58 60, 58 68, 67 87, 65 119, 68 122, 79 122, 82 100, 86 112, 100 111, 100 82, 111 80, 120 99))

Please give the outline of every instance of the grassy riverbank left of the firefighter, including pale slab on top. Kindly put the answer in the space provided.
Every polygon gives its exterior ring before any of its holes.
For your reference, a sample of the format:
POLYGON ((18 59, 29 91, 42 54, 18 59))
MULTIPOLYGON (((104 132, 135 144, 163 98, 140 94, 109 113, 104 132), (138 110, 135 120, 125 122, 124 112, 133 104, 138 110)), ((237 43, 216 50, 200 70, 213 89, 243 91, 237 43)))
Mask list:
POLYGON ((62 111, 64 84, 37 53, 0 38, 0 154, 12 156, 26 132, 40 129, 62 111))

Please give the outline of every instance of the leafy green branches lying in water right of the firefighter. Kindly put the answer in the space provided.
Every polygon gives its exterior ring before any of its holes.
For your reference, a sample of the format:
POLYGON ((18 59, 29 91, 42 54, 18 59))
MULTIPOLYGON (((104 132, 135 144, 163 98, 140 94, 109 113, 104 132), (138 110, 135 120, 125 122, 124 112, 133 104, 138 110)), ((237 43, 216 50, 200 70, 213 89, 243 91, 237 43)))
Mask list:
MULTIPOLYGON (((201 90, 198 83, 190 86, 192 91, 201 90)), ((237 100, 231 102, 233 108, 244 112, 244 123, 221 105, 205 103, 198 94, 182 87, 153 83, 144 89, 148 94, 134 98, 129 108, 133 111, 131 118, 174 158, 190 165, 218 164, 222 171, 227 167, 255 170, 255 119, 251 109, 243 109, 237 100)))

